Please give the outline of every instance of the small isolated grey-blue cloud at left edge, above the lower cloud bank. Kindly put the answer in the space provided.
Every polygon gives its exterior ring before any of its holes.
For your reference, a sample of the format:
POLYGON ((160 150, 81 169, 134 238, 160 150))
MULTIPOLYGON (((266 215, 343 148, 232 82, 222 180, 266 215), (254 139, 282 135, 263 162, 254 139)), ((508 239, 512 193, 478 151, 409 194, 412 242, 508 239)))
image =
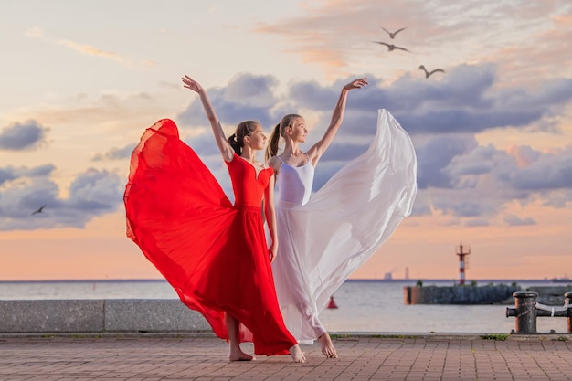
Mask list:
POLYGON ((36 121, 15 122, 0 132, 0 150, 24 151, 44 143, 49 128, 36 121))

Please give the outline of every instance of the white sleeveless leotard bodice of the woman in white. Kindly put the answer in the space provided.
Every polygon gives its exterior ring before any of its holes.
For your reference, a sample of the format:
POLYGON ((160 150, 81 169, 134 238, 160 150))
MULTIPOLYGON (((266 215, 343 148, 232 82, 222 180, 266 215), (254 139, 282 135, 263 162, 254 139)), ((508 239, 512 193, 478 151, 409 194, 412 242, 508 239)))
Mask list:
MULTIPOLYGON (((280 156, 278 156, 280 158, 280 156)), ((281 159, 281 158, 280 158, 281 159)), ((301 166, 291 166, 281 159, 281 170, 276 176, 278 204, 301 206, 310 200, 313 184, 313 165, 308 162, 301 166)))

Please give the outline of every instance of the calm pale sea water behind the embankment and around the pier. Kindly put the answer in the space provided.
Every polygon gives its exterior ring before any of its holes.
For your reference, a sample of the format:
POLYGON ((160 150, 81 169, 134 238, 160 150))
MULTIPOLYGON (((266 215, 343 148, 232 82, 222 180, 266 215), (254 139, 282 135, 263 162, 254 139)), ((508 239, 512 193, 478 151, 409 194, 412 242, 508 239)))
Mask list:
MULTIPOLYGON (((517 283, 554 285, 546 280, 482 280, 477 285, 517 283)), ((444 305, 404 302, 404 287, 414 280, 347 280, 334 292, 338 308, 325 309, 323 325, 332 333, 510 333, 514 317, 506 305, 444 305)), ((425 280, 424 285, 450 286, 454 280, 425 280)), ((47 299, 177 299, 165 280, 0 281, 1 300, 47 299)), ((540 317, 538 333, 567 332, 567 319, 540 317)))

